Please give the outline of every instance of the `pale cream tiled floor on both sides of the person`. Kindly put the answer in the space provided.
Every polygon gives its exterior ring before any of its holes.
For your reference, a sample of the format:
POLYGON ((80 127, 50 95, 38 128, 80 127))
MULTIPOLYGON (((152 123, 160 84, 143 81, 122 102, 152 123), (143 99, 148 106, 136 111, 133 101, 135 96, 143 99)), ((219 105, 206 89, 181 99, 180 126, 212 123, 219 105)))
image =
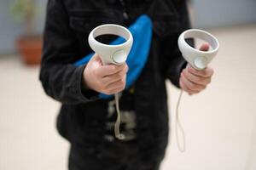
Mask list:
MULTIPOLYGON (((256 169, 256 26, 211 32, 221 44, 212 84, 199 95, 183 95, 187 150, 179 153, 172 136, 161 169, 256 169)), ((178 90, 167 84, 173 117, 178 90)), ((1 170, 67 169, 69 145, 55 130, 58 108, 41 88, 38 67, 0 58, 1 170)))

